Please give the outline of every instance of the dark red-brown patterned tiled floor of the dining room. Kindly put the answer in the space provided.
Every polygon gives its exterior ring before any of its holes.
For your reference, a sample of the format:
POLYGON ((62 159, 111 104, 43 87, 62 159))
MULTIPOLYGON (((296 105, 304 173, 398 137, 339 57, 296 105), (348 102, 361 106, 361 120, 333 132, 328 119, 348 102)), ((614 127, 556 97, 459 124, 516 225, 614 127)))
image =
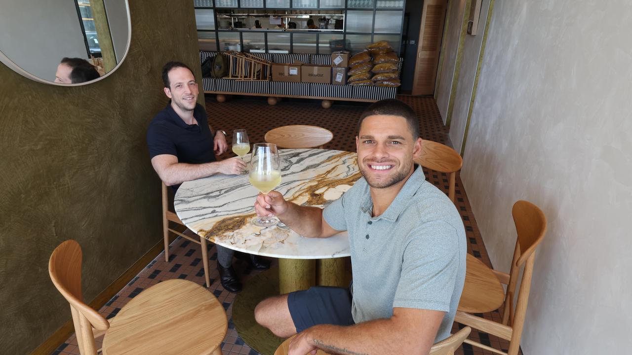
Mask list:
MULTIPOLYGON (((407 104, 411 105, 420 117, 420 133, 422 138, 427 140, 439 141, 449 144, 447 138, 447 128, 444 127, 439 116, 439 110, 434 99, 428 97, 410 97, 400 96, 407 104)), ((224 129, 229 134, 233 129, 245 128, 251 143, 264 141, 265 132, 268 129, 286 124, 312 124, 321 126, 331 130, 334 133, 334 139, 325 145, 325 148, 337 150, 355 151, 355 134, 358 117, 366 104, 334 104, 331 109, 322 109, 319 101, 310 100, 283 100, 276 106, 269 106, 265 98, 245 98, 233 99, 228 102, 219 104, 214 98, 207 97, 206 100, 209 121, 214 128, 224 129)), ((231 136, 228 137, 229 144, 231 136)), ((226 153, 222 157, 232 156, 226 153)), ((446 174, 424 169, 426 178, 438 188, 447 192, 447 176, 446 174)), ((461 188, 461 179, 457 174, 456 178, 456 207, 461 213, 463 223, 465 224, 466 236, 468 238, 468 252, 477 256, 487 265, 490 265, 487 251, 480 238, 480 232, 476 225, 474 216, 471 214, 470 203, 468 202, 465 191, 461 188)), ((157 238, 159 238, 157 236, 157 238)), ((239 337, 232 322, 232 304, 234 294, 224 290, 217 280, 218 273, 215 268, 216 252, 214 246, 209 243, 210 256, 210 291, 217 296, 219 301, 224 305, 229 318, 229 329, 224 342, 222 343, 222 351, 224 355, 236 354, 258 354, 257 351, 250 349, 239 337)), ((112 298, 99 311, 106 318, 116 315, 119 310, 134 296, 143 289, 147 289, 161 280, 168 279, 186 279, 197 282, 205 286, 204 271, 202 270, 202 253, 197 244, 190 243, 184 239, 176 239, 169 248, 169 262, 164 261, 164 255, 158 255, 140 274, 123 288, 114 298, 112 298)), ((257 271, 247 267, 245 262, 241 260, 234 261, 235 268, 240 274, 242 280, 247 280, 257 271)), ((500 320, 499 312, 485 313, 485 318, 492 320, 500 320)), ((454 325, 453 330, 457 330, 458 325, 454 325)), ((507 349, 507 342, 487 334, 480 334, 473 330, 470 338, 487 344, 495 348, 507 349)), ((97 347, 100 343, 97 342, 97 347)), ((73 335, 66 340, 64 344, 53 352, 53 354, 78 355, 79 351, 76 346, 76 339, 73 335)), ((457 355, 488 355, 492 352, 482 351, 473 348, 468 344, 463 344, 461 349, 456 352, 457 355)))

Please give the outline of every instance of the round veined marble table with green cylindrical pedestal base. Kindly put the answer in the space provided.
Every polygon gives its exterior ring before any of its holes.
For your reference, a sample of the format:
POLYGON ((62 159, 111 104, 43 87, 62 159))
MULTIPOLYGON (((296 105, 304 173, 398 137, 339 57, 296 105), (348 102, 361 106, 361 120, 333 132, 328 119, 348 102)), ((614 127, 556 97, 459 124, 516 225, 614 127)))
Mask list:
MULTIPOLYGON (((298 205, 324 207, 349 190, 361 176, 356 153, 284 149, 279 155, 282 181, 275 190, 298 205)), ((250 155, 244 159, 250 161, 250 155)), ((256 323, 252 325, 252 311, 259 299, 272 296, 270 292, 284 294, 315 284, 346 286, 343 256, 349 256, 347 232, 323 239, 304 238, 284 224, 272 227, 252 224, 257 217, 253 207, 257 194, 248 176, 217 174, 183 183, 174 199, 179 219, 198 235, 236 251, 279 258, 278 271, 270 270, 278 275, 270 275, 270 272, 257 275, 245 284, 233 304, 233 321, 251 347, 256 346, 253 342, 269 335, 261 335, 260 328, 248 330, 256 328, 256 323), (274 283, 275 289, 270 289, 270 283, 274 283), (238 306, 238 303, 241 304, 238 306), (237 318, 242 315, 248 317, 248 322, 242 323, 240 329, 237 318), (259 334, 246 339, 248 335, 243 332, 259 334)), ((280 344, 278 339, 273 343, 277 342, 280 344)), ((261 347, 255 349, 269 352, 261 347)))

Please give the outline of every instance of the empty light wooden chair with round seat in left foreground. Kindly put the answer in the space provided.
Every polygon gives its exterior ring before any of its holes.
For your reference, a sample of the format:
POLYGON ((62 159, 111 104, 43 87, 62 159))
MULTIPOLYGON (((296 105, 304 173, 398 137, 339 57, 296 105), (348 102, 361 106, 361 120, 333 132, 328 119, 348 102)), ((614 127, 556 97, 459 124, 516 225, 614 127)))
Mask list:
POLYGON ((59 244, 48 263, 52 283, 70 303, 80 354, 96 355, 94 339, 100 335, 105 335, 104 355, 222 354, 226 312, 204 287, 163 281, 140 292, 108 321, 83 303, 81 267, 82 250, 73 240, 59 244))

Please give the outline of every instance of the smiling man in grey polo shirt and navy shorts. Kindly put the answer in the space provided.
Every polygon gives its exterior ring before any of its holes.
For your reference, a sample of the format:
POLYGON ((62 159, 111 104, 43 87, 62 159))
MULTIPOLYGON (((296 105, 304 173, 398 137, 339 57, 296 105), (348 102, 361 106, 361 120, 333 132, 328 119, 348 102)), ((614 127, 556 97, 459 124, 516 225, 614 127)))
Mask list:
POLYGON ((302 236, 349 232, 352 287, 312 287, 255 309, 274 334, 300 333, 290 355, 425 355, 449 336, 465 280, 465 229, 454 204, 413 164, 418 127, 403 102, 376 102, 358 123, 363 178, 341 198, 321 210, 276 191, 257 197, 258 215, 276 215, 302 236))

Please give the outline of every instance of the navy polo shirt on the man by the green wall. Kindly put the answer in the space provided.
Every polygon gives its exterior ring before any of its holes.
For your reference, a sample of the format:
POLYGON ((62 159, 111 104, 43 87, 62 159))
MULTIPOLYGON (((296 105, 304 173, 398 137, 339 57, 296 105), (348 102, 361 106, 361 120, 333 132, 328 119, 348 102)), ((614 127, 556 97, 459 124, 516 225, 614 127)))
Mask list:
MULTIPOLYGON (((202 105, 195 105, 193 117, 198 124, 186 124, 173 111, 171 103, 158 112, 147 129, 150 159, 156 155, 169 154, 178 157, 180 163, 203 164, 216 161, 213 134, 202 105)), ((178 186, 173 186, 174 190, 178 190, 178 186)))

